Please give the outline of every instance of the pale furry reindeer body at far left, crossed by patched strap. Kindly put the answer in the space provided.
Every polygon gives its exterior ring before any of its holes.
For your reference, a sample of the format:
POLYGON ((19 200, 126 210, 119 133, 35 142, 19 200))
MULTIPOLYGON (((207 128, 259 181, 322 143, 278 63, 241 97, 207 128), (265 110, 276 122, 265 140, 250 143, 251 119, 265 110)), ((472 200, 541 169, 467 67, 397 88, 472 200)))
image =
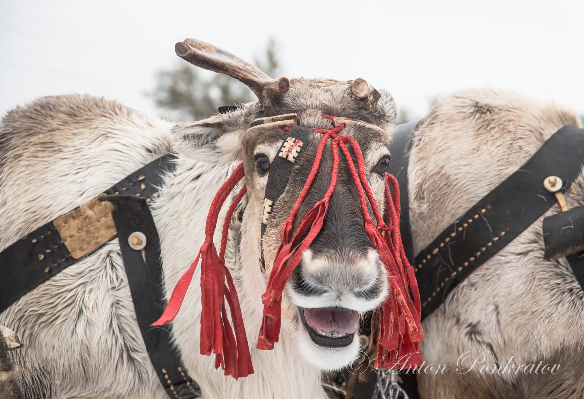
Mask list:
MULTIPOLYGON (((2 248, 32 226, 84 204, 172 145, 171 124, 91 96, 37 100, 9 112, 2 128, 7 139, 2 248)), ((115 241, 22 297, 2 318, 22 331, 26 343, 16 357, 27 395, 166 395, 159 391, 135 323, 115 241)))

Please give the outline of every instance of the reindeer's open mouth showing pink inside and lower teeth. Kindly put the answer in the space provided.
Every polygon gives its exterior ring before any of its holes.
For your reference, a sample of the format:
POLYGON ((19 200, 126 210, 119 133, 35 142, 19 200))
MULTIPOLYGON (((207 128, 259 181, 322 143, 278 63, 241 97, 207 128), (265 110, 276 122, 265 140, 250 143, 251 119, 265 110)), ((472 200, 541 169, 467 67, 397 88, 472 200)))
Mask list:
POLYGON ((342 348, 353 342, 359 328, 359 313, 343 308, 299 308, 308 335, 315 344, 342 348))

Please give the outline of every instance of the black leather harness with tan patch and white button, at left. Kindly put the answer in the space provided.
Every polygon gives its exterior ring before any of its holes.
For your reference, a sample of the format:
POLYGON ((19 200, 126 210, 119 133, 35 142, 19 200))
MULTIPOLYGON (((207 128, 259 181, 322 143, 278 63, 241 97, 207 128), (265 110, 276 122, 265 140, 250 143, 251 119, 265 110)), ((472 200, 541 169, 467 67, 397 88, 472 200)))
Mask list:
POLYGON ((20 297, 118 238, 134 312, 148 355, 166 393, 172 399, 201 396, 186 372, 171 327, 151 328, 166 301, 162 292, 160 239, 148 203, 158 197, 165 172, 176 167, 175 155, 165 155, 116 183, 96 199, 37 228, 0 252, 0 313, 20 297), (144 234, 145 245, 130 248, 128 237, 144 234))

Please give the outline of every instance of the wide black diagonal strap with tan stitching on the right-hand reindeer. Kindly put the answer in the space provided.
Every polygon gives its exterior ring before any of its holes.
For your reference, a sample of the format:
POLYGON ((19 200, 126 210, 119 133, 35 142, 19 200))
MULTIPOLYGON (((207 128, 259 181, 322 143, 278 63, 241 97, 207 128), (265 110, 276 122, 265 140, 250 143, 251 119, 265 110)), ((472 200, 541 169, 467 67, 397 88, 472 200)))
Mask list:
POLYGON ((509 178, 479 200, 416 256, 422 320, 478 266, 555 204, 544 179, 558 176, 565 191, 582 169, 584 129, 564 126, 509 178))

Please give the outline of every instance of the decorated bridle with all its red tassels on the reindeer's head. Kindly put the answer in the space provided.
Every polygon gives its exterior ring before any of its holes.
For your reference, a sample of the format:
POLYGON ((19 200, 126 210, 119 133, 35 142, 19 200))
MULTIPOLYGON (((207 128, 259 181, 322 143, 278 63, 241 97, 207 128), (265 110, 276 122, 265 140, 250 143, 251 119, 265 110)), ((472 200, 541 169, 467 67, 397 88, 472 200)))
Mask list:
MULTIPOLYGON (((306 148, 308 139, 312 134, 322 135, 310 175, 290 212, 290 216, 284 221, 280 230, 280 245, 267 280, 266 291, 262 294, 263 316, 256 348, 272 349, 274 342, 278 341, 281 322, 281 296, 284 286, 300 263, 305 249, 310 247, 322 228, 329 200, 337 183, 340 150, 343 157, 345 157, 352 182, 359 194, 366 233, 373 247, 380 255, 388 278, 389 295, 383 304, 374 311, 371 318, 372 336, 370 346, 373 346, 374 342, 377 344, 375 367, 381 368, 383 365, 395 364, 402 356, 411 353, 413 355, 409 356, 407 364, 402 365, 402 368, 420 365, 422 362, 420 341, 423 339, 420 325, 420 298, 413 268, 406 258, 399 233, 398 183, 394 176, 385 174, 384 196, 387 220, 384 220, 367 183, 363 154, 359 144, 353 137, 342 136, 340 133, 347 124, 361 124, 382 134, 385 141, 388 141, 388 134, 380 127, 361 120, 330 115, 325 115, 324 117, 331 119, 335 127, 332 129, 302 127, 299 124, 297 115, 286 114, 256 119, 249 128, 250 130, 285 129, 289 133, 289 136, 280 146, 272 165, 270 165, 262 214, 262 235, 266 230, 272 206, 286 187, 294 162, 303 154, 302 151, 306 148), (300 226, 293 234, 293 225, 298 216, 298 210, 318 174, 322 155, 329 141, 333 152, 331 183, 324 197, 302 218, 300 226), (355 168, 353 156, 347 149, 347 143, 353 149, 357 168, 355 168), (390 185, 394 192, 393 196, 391 195, 390 185), (373 211, 375 220, 369 214, 368 203, 373 211), (412 297, 409 294, 410 291, 412 297), (378 325, 377 329, 373 328, 374 324, 378 325)), ((224 256, 230 220, 235 208, 245 195, 245 185, 235 196, 225 216, 220 251, 218 253, 213 244, 213 234, 223 203, 230 196, 237 183, 244 177, 244 166, 240 164, 215 195, 207 216, 206 237, 199 254, 197 254, 189 270, 176 284, 162 317, 152 324, 152 326, 164 325, 175 318, 192 280, 194 270, 199 263, 199 259, 201 259, 201 303, 203 307, 201 314, 201 354, 211 355, 211 353, 215 353, 215 368, 221 366, 226 375, 232 375, 236 379, 253 373, 253 367, 242 320, 241 307, 233 279, 225 266, 224 256), (225 301, 227 301, 230 309, 231 322, 228 318, 225 301)), ((260 261, 260 263, 262 262, 263 260, 260 261)), ((262 270, 262 273, 264 273, 264 270, 262 270)))

